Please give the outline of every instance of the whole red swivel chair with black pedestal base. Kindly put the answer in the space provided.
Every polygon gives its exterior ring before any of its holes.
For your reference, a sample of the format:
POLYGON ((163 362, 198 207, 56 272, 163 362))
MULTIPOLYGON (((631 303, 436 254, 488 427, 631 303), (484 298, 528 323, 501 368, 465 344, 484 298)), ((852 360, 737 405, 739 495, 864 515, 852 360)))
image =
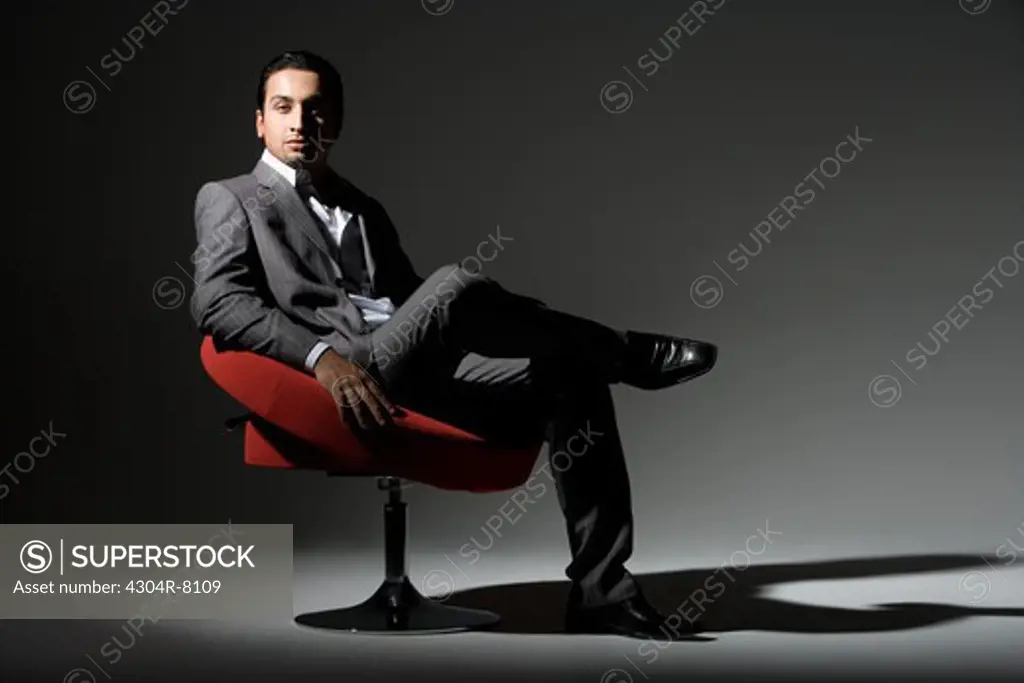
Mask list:
POLYGON ((218 351, 210 336, 200 356, 214 383, 249 411, 225 422, 228 429, 245 424, 246 464, 374 476, 388 493, 380 588, 357 605, 299 614, 296 623, 358 633, 445 633, 501 620, 483 609, 438 604, 410 583, 401 480, 475 493, 514 488, 529 477, 541 441, 499 446, 403 408, 407 415, 394 420, 394 447, 371 450, 342 423, 331 394, 313 377, 254 352, 218 351))

